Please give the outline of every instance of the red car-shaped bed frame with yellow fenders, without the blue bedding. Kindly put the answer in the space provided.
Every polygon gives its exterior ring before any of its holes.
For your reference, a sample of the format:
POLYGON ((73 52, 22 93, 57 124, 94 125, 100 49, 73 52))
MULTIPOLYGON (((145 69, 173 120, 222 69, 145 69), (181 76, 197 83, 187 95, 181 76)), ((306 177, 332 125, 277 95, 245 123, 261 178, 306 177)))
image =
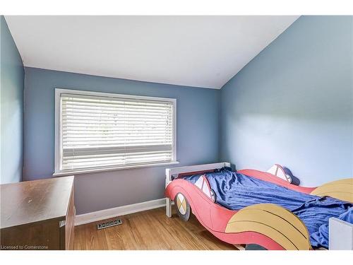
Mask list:
MULTIPOLYGON (((232 211, 216 204, 208 179, 202 174, 224 166, 229 167, 229 163, 168 169, 165 189, 167 216, 172 216, 170 203, 173 200, 180 218, 188 220, 193 213, 207 230, 230 244, 257 245, 264 249, 312 249, 306 225, 282 206, 254 204, 239 211, 232 211), (186 175, 194 174, 201 174, 194 184, 183 179, 186 175)), ((353 179, 342 179, 321 187, 299 187, 289 183, 292 176, 280 165, 274 165, 269 172, 258 170, 237 172, 297 192, 353 201, 351 189, 353 179)))

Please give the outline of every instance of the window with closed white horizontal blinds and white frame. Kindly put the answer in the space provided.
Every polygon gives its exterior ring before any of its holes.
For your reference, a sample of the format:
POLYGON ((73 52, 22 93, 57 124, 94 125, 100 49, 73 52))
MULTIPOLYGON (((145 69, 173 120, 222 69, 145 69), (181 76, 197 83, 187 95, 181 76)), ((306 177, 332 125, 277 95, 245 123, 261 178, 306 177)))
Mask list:
POLYGON ((176 100, 56 89, 55 172, 177 163, 176 100))

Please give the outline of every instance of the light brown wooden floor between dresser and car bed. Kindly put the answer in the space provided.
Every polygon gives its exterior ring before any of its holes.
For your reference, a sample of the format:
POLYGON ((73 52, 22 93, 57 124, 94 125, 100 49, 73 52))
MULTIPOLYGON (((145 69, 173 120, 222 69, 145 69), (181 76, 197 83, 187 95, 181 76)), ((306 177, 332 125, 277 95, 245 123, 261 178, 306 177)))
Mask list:
MULTIPOLYGON (((109 220, 109 219, 108 219, 109 220)), ((122 225, 97 230, 97 223, 75 228, 74 249, 236 249, 222 242, 191 215, 183 222, 165 208, 121 216, 122 225)))

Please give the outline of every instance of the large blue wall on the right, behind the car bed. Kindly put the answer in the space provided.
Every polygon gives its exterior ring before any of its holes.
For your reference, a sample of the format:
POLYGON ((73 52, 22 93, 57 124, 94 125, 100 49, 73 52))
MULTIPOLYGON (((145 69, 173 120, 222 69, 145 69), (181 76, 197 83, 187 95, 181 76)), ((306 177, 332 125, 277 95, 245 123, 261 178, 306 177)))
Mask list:
POLYGON ((294 22, 222 88, 220 158, 307 186, 352 177, 352 49, 352 16, 294 22))

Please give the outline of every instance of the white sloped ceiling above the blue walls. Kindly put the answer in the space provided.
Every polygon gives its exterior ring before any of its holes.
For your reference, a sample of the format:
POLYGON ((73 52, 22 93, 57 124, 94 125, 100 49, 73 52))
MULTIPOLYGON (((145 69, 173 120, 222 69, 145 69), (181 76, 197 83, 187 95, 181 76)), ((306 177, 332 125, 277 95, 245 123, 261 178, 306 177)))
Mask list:
POLYGON ((25 66, 222 88, 298 16, 6 16, 25 66))

